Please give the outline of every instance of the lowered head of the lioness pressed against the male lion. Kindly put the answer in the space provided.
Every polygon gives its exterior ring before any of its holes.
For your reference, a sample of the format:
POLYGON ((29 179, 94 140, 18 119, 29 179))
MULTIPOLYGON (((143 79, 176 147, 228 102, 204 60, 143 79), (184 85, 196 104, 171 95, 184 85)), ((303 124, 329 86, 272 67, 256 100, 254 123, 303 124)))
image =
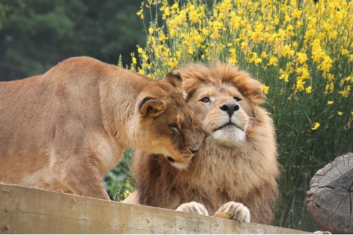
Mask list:
POLYGON ((162 154, 184 169, 198 150, 202 134, 194 128, 193 112, 183 98, 180 73, 169 73, 156 84, 142 90, 136 103, 144 150, 162 154))

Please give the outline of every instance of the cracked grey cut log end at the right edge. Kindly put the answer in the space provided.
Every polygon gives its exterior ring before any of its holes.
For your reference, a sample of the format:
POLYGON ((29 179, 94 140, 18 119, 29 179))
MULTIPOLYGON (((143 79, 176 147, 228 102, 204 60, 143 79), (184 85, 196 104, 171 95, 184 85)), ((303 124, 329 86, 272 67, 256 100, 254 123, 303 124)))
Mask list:
POLYGON ((353 234, 353 153, 319 169, 306 192, 309 215, 333 234, 353 234))

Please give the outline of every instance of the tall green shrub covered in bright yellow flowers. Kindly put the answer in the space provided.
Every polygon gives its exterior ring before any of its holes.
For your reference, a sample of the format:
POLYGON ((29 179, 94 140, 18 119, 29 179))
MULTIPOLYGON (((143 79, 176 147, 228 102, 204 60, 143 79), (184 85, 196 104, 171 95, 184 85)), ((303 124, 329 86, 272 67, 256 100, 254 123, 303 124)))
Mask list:
POLYGON ((275 224, 315 229, 304 203, 313 174, 352 151, 353 1, 148 0, 147 44, 131 70, 163 78, 220 59, 261 80, 277 128, 281 202, 275 224), (170 1, 169 1, 170 2, 170 1))

